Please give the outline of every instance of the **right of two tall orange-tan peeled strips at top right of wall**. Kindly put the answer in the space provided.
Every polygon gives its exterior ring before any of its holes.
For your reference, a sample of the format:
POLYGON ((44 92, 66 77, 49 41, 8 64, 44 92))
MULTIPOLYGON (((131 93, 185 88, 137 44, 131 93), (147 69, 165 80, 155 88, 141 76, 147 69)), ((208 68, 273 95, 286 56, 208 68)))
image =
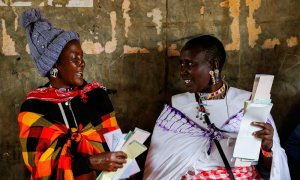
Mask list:
POLYGON ((247 17, 248 44, 253 48, 258 40, 258 35, 261 34, 261 28, 257 26, 253 18, 254 11, 261 6, 261 0, 246 0, 246 6, 249 7, 249 16, 247 17))

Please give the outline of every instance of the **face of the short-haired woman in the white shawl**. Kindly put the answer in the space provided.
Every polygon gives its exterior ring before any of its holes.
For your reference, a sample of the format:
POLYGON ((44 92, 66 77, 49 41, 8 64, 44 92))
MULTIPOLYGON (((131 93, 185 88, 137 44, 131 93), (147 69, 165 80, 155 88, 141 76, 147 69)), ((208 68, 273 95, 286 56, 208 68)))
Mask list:
POLYGON ((185 49, 181 52, 180 76, 189 92, 209 92, 210 70, 210 63, 201 50, 185 49))

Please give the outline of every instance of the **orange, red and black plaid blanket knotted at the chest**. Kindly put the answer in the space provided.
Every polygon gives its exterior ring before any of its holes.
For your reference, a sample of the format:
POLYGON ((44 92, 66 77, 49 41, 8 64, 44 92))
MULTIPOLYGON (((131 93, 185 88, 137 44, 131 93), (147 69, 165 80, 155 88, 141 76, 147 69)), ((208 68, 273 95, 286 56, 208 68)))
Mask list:
POLYGON ((114 113, 101 117, 102 122, 68 129, 62 123, 51 123, 41 114, 21 112, 18 116, 20 141, 26 167, 32 179, 74 179, 72 173, 71 141, 78 143, 77 153, 94 155, 104 152, 103 133, 115 130, 114 113))

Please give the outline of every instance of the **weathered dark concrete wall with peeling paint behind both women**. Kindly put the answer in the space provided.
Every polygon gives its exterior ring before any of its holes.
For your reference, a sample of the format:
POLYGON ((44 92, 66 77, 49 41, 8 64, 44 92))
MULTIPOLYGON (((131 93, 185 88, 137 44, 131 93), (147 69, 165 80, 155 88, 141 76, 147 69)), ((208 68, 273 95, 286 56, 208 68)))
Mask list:
POLYGON ((184 91, 177 56, 200 34, 224 42, 223 75, 230 85, 251 90, 256 73, 275 75, 272 113, 282 137, 299 122, 298 0, 0 0, 1 178, 26 177, 17 114, 25 93, 46 82, 18 24, 30 7, 81 35, 85 78, 117 90, 111 100, 124 132, 136 126, 151 131, 163 104, 184 91))

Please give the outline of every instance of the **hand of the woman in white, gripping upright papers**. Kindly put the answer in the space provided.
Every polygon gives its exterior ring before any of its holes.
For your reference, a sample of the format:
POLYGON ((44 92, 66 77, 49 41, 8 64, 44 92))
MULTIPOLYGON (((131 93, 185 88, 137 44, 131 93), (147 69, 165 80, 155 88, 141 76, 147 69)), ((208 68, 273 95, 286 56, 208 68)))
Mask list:
POLYGON ((251 124, 262 128, 262 130, 254 132, 253 135, 257 138, 262 139, 261 147, 263 148, 263 150, 271 151, 271 148, 273 146, 274 133, 272 125, 262 122, 252 122, 251 124))

